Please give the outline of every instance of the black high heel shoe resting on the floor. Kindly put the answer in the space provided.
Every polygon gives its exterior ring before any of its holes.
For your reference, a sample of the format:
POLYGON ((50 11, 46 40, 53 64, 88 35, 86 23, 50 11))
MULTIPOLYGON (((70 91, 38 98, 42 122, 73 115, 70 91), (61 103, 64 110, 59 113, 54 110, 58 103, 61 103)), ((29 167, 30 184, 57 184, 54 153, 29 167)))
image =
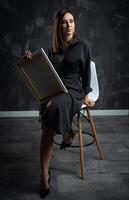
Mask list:
POLYGON ((39 194, 40 194, 40 198, 41 199, 44 199, 50 193, 50 171, 48 173, 49 173, 49 178, 48 178, 49 188, 45 189, 44 186, 43 186, 43 184, 42 184, 42 181, 40 181, 40 191, 39 191, 39 194))

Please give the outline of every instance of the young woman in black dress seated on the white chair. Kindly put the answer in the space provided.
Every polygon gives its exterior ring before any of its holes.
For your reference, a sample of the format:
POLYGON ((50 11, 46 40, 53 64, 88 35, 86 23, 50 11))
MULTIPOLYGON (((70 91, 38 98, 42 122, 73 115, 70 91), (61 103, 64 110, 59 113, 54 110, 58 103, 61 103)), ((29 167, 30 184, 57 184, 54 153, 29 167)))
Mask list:
MULTIPOLYGON (((31 52, 26 57, 31 58, 31 52)), ((43 133, 40 145, 41 186, 40 197, 50 192, 49 166, 53 149, 53 132, 63 136, 60 149, 69 147, 74 138, 71 128, 74 115, 85 102, 94 105, 88 98, 90 88, 90 52, 85 39, 76 33, 75 18, 71 11, 62 10, 54 18, 52 49, 48 53, 60 78, 68 89, 41 105, 43 133)))

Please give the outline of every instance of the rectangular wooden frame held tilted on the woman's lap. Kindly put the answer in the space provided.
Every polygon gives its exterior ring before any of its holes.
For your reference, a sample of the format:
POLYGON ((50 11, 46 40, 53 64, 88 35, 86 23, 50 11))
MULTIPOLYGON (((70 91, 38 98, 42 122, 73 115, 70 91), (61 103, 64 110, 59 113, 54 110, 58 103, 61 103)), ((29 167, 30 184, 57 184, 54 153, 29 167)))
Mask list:
POLYGON ((17 66, 40 103, 68 92, 43 49, 34 53, 31 60, 20 60, 17 66))

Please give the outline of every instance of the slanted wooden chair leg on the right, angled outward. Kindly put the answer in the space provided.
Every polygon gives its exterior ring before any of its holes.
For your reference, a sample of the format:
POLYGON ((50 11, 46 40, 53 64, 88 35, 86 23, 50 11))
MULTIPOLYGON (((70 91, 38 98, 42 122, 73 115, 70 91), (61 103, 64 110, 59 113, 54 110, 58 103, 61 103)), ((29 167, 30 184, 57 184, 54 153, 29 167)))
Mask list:
POLYGON ((101 145, 100 145, 100 142, 99 142, 99 138, 97 136, 97 132, 96 132, 96 129, 95 129, 95 126, 94 126, 93 119, 90 115, 89 108, 86 108, 86 111, 87 111, 87 115, 88 115, 88 119, 89 119, 89 123, 90 123, 91 129, 92 129, 93 135, 95 137, 95 142, 96 142, 97 149, 98 149, 98 152, 99 152, 99 155, 100 155, 100 159, 103 160, 104 156, 103 156, 102 148, 101 148, 101 145))

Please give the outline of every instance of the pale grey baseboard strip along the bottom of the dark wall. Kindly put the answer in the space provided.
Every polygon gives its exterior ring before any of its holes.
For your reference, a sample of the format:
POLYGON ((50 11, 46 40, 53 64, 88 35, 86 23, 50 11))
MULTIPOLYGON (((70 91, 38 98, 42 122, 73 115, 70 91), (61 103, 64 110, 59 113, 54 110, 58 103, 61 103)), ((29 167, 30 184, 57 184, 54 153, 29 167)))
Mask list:
MULTIPOLYGON (((129 116, 129 110, 91 110, 93 116, 129 116)), ((0 117, 38 117, 39 111, 0 111, 0 117)))

